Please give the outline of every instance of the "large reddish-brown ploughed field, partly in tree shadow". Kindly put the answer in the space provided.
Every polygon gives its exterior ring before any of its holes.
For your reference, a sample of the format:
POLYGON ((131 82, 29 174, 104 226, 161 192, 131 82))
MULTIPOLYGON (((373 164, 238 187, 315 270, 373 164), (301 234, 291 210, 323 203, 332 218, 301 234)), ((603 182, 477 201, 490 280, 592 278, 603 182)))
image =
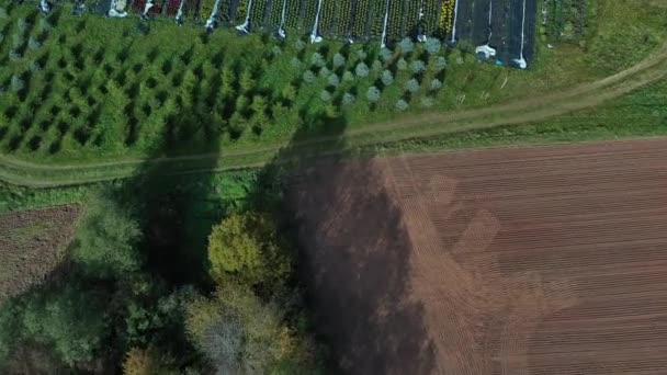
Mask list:
POLYGON ((347 374, 667 374, 667 140, 320 160, 286 186, 347 374))

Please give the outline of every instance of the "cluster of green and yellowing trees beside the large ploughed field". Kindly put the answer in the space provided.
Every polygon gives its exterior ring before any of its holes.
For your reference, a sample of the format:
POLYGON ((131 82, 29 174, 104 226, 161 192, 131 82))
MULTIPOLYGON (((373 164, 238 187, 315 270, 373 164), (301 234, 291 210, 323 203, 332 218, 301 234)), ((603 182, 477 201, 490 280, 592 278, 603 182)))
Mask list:
POLYGON ((320 371, 295 253, 272 215, 225 215, 208 237, 210 277, 188 274, 188 261, 176 258, 170 265, 182 266, 189 282, 174 282, 151 253, 155 223, 120 195, 128 193, 123 189, 95 193, 69 260, 42 286, 0 306, 0 372, 320 371))

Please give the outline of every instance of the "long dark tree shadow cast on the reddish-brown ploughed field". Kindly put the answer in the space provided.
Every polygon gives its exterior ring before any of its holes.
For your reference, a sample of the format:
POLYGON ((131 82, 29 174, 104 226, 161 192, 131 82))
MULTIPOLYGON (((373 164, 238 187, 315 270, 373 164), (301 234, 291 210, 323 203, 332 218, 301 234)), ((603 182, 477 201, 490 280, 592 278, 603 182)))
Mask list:
POLYGON ((273 212, 298 248, 298 279, 334 373, 432 373, 433 343, 411 298, 400 208, 374 160, 346 157, 346 122, 325 117, 317 121, 336 140, 298 146, 313 137, 305 122, 262 170, 255 200, 281 197, 273 212))

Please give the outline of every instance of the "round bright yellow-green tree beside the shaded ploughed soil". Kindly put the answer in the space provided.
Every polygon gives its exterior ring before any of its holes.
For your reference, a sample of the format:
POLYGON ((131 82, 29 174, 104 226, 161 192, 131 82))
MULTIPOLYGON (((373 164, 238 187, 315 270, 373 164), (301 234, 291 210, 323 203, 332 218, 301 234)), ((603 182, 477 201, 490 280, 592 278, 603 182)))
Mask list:
POLYGON ((233 214, 208 237, 211 274, 229 282, 273 289, 287 277, 291 264, 268 215, 233 214))

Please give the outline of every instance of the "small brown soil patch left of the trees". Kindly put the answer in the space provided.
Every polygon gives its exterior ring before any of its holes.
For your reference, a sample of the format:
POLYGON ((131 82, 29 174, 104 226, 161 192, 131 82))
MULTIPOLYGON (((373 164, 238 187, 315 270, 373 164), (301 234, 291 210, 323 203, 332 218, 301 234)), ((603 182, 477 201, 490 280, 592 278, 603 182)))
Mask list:
POLYGON ((0 302, 47 277, 74 236, 78 206, 0 215, 0 302))

